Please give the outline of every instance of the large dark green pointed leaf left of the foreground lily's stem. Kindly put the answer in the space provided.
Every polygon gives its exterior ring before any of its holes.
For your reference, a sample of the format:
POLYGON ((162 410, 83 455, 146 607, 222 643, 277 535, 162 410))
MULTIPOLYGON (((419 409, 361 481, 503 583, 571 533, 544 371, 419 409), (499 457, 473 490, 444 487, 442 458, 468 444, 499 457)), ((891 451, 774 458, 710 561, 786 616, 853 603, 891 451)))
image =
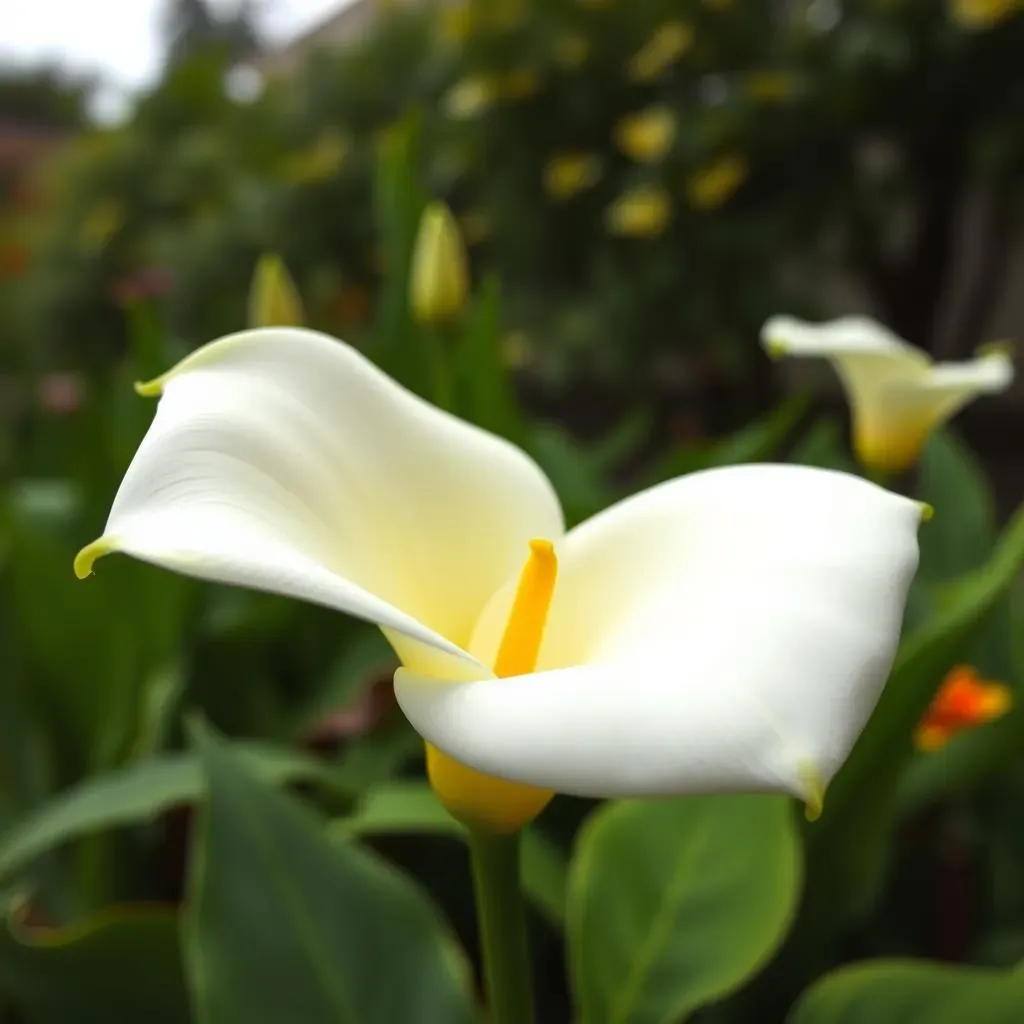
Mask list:
POLYGON ((199 1024, 460 1024, 462 954, 408 879, 332 846, 298 804, 195 731, 209 788, 185 963, 199 1024))

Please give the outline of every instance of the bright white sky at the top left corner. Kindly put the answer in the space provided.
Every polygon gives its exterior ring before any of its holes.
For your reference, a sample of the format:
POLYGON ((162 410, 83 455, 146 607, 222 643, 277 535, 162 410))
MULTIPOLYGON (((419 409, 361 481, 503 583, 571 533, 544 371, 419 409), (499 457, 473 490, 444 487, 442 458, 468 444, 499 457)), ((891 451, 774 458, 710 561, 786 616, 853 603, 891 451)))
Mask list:
MULTIPOLYGON (((271 42, 305 32, 348 0, 261 0, 271 42)), ((0 61, 36 63, 56 58, 67 68, 96 72, 112 92, 145 85, 161 56, 160 23, 166 0, 0 0, 0 61)), ((229 11, 238 0, 213 0, 229 11)))

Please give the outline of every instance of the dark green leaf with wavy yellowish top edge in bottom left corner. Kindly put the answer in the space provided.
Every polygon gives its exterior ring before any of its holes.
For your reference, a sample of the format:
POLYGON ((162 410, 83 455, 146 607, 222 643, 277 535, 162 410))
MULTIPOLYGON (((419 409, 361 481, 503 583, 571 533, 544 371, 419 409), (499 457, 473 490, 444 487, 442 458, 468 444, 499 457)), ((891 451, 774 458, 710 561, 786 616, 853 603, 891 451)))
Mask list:
POLYGON ((32 1024, 187 1024, 177 916, 125 907, 73 928, 5 924, 0 993, 32 1024))

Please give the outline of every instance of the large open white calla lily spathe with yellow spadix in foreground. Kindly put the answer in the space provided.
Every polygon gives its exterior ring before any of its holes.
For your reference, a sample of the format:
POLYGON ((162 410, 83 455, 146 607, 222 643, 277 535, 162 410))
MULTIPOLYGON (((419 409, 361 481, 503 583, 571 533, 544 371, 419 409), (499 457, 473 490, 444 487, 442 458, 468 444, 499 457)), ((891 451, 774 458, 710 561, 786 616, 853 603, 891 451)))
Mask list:
POLYGON ((122 551, 377 623, 428 743, 541 806, 815 804, 892 665, 922 510, 857 477, 715 469, 565 534, 528 456, 327 336, 232 335, 140 390, 156 418, 78 574, 122 551))

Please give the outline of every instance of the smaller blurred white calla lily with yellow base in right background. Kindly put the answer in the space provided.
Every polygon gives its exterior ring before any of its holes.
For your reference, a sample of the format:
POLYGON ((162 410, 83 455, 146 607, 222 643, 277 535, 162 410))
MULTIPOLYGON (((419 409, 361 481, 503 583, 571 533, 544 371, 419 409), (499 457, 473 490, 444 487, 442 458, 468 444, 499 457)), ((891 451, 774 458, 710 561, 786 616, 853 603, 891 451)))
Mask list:
POLYGON ((865 316, 808 324, 773 316, 761 333, 768 353, 831 361, 853 414, 853 443, 869 469, 899 472, 928 435, 981 394, 1013 383, 1009 351, 992 345, 968 362, 933 362, 922 349, 865 316))

